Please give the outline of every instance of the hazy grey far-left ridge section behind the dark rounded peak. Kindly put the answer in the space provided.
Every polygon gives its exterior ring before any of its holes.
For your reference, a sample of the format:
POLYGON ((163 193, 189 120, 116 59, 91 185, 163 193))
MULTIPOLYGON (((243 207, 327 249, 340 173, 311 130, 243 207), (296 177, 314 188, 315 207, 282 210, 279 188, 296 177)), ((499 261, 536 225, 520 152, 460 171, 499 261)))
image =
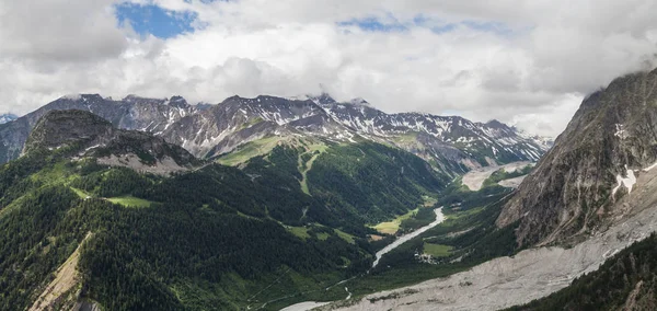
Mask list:
POLYGON ((180 96, 155 100, 130 95, 122 101, 114 101, 97 94, 67 95, 13 122, 0 125, 0 162, 20 156, 30 131, 42 116, 50 111, 65 110, 88 111, 116 127, 152 133, 162 131, 183 116, 199 111, 180 96))

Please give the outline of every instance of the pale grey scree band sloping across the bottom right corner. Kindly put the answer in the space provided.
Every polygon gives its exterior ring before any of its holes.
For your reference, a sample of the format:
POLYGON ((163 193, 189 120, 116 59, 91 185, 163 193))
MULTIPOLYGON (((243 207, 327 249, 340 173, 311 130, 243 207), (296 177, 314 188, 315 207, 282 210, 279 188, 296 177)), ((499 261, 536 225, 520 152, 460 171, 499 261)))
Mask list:
POLYGON ((646 209, 572 249, 526 250, 447 278, 337 302, 323 310, 498 310, 523 304, 568 286, 607 258, 657 229, 657 209, 646 209))

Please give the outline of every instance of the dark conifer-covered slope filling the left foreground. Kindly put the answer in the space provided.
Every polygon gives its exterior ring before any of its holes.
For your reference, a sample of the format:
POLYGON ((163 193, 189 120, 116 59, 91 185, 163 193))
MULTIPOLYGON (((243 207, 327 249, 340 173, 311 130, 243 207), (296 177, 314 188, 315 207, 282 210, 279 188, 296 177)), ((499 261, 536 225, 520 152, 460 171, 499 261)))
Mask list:
POLYGON ((87 232, 93 238, 80 258, 82 297, 107 310, 235 309, 284 268, 338 280, 357 268, 347 262, 368 256, 337 234, 297 238, 267 215, 293 203, 232 168, 163 178, 25 157, 5 164, 0 176, 3 199, 11 200, 0 210, 2 310, 28 307, 87 232), (105 199, 120 195, 152 204, 131 208, 105 199))

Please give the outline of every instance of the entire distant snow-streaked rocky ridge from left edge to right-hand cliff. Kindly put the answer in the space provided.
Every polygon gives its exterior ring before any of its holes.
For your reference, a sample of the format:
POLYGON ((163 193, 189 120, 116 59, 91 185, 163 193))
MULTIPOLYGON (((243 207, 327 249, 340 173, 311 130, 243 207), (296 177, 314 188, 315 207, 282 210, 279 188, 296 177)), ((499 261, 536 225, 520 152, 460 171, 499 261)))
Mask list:
POLYGON ((290 100, 232 96, 218 105, 189 105, 184 99, 120 101, 97 94, 67 95, 0 126, 0 161, 15 159, 36 120, 53 110, 84 110, 124 129, 150 131, 198 158, 212 158, 269 136, 313 136, 350 143, 392 145, 429 161, 450 175, 492 163, 535 161, 549 142, 493 120, 457 116, 387 114, 365 100, 337 103, 327 94, 290 100))

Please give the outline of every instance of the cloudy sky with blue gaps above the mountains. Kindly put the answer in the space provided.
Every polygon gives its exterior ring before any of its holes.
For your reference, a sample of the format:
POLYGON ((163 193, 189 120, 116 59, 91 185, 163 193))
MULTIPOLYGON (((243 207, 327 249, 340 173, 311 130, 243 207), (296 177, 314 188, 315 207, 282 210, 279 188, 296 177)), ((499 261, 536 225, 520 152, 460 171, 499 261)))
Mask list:
POLYGON ((2 0, 0 113, 64 94, 328 92, 557 135, 657 65, 657 0, 2 0))

